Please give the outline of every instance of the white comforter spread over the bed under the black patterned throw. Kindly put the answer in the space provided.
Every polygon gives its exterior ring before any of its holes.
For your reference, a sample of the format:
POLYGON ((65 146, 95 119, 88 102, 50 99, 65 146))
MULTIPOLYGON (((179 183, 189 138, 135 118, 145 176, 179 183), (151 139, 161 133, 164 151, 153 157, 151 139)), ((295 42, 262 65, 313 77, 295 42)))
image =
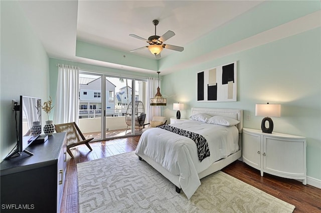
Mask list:
POLYGON ((172 174, 179 175, 181 187, 190 199, 201 185, 198 173, 213 162, 238 151, 238 129, 235 126, 225 127, 194 120, 171 125, 204 136, 210 156, 200 162, 192 139, 161 128, 152 128, 141 134, 136 154, 145 154, 172 174))

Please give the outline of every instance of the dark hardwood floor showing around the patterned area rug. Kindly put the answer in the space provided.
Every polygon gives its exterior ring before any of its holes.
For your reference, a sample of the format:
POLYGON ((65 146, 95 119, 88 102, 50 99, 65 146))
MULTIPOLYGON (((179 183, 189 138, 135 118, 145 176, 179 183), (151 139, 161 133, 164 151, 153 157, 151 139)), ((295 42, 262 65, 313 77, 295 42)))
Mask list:
MULTIPOLYGON (((76 164, 98 158, 103 158, 136 149, 139 136, 90 143, 92 151, 85 145, 79 145, 72 150, 75 158, 67 158, 67 174, 60 208, 61 213, 78 212, 78 185, 76 164)), ((222 169, 225 173, 243 182, 255 186, 279 199, 295 205, 294 213, 321 212, 321 189, 303 185, 296 180, 264 174, 241 161, 235 161, 222 169)), ((173 190, 175 187, 173 186, 173 190)))

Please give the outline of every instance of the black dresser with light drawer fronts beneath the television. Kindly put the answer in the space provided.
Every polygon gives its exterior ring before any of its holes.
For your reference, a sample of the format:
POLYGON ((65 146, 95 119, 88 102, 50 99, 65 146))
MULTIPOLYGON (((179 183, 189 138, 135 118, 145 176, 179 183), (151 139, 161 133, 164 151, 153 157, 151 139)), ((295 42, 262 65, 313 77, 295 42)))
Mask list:
POLYGON ((66 133, 55 133, 46 143, 31 144, 27 152, 1 162, 1 212, 46 212, 60 210, 66 176, 66 133), (17 193, 20 192, 20 193, 17 193), (28 193, 22 193, 26 191, 28 193), (29 209, 9 209, 16 204, 29 209), (7 205, 6 205, 7 204, 7 205), (5 206, 5 207, 3 207, 5 206), (12 206, 12 205, 10 205, 12 206))

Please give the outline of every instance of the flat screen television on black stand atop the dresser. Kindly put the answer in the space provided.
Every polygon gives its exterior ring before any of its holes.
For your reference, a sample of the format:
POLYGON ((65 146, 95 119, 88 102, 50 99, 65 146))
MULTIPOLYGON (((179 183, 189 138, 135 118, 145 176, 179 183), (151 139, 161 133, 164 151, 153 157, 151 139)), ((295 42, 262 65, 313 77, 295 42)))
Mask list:
MULTIPOLYGON (((20 156, 21 152, 33 155, 26 148, 41 134, 41 99, 20 96, 19 110, 19 130, 17 149, 7 158, 20 156)), ((17 113, 17 112, 16 112, 17 113)))

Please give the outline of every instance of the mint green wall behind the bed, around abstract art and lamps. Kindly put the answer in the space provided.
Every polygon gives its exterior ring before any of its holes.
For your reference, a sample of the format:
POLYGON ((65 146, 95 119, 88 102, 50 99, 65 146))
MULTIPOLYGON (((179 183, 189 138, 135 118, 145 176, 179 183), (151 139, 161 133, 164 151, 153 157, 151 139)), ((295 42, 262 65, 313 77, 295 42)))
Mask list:
POLYGON ((307 138, 307 175, 321 179, 321 29, 317 28, 228 57, 164 76, 162 94, 168 98, 165 116, 175 117, 173 104, 184 103, 182 117, 191 107, 240 108, 244 127, 260 129, 263 117, 255 104, 281 104, 281 117, 272 118, 275 132, 307 138), (197 72, 238 61, 237 102, 198 103, 197 72), (250 115, 251 120, 245 120, 250 115))

